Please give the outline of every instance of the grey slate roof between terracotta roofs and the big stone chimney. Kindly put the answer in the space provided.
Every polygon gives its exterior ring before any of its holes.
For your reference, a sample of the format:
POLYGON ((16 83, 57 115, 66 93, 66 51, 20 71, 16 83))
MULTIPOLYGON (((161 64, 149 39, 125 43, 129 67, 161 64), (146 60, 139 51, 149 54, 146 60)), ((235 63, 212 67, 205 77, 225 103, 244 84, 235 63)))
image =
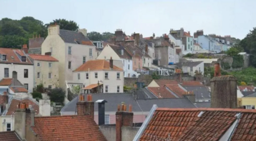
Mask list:
POLYGON ((211 99, 211 92, 205 86, 182 86, 187 91, 194 91, 196 100, 211 99))

